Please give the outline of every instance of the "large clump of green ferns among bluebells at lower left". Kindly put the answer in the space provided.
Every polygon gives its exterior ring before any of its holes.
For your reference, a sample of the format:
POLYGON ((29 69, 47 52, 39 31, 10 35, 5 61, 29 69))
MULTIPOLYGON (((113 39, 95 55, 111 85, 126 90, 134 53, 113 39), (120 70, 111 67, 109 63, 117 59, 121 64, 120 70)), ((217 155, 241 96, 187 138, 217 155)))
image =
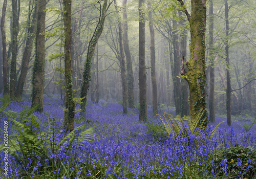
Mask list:
MULTIPOLYGON (((93 138, 94 129, 80 125, 67 135, 56 125, 56 120, 48 118, 48 124, 42 124, 32 114, 35 108, 25 108, 19 113, 6 110, 9 100, 1 99, 0 114, 7 116, 9 132, 8 152, 20 165, 23 175, 31 178, 36 166, 38 173, 54 172, 63 165, 60 153, 71 154, 74 147, 84 145, 93 138)), ((3 130, 2 130, 3 132, 3 130)), ((6 146, 0 145, 0 149, 6 146)))

